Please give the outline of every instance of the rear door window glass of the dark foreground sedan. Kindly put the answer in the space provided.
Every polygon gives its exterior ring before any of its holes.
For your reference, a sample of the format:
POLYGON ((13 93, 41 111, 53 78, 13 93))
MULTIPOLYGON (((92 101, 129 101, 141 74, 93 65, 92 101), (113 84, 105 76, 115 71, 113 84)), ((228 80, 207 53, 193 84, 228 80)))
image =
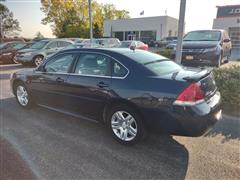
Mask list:
POLYGON ((110 76, 111 59, 101 54, 81 54, 75 73, 90 76, 110 76))

